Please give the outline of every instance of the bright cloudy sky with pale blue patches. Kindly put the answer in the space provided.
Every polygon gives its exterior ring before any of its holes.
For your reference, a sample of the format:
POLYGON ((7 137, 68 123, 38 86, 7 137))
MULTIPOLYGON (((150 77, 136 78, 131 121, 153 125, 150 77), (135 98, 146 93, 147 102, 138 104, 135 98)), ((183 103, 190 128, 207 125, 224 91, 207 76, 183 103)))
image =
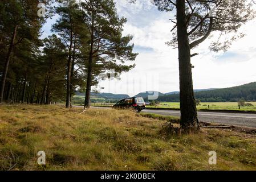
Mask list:
MULTIPOLYGON (((116 0, 119 16, 127 18, 123 35, 132 34, 134 52, 139 53, 136 64, 119 79, 101 81, 97 90, 105 93, 129 94, 147 90, 162 93, 179 90, 178 51, 165 43, 172 39, 170 30, 173 13, 158 11, 149 0, 130 4, 127 0, 116 0)), ((43 36, 50 34, 53 19, 44 25, 43 36)), ((246 36, 233 43, 227 52, 210 52, 210 40, 206 40, 192 53, 194 89, 227 88, 256 81, 256 20, 241 27, 246 36)))

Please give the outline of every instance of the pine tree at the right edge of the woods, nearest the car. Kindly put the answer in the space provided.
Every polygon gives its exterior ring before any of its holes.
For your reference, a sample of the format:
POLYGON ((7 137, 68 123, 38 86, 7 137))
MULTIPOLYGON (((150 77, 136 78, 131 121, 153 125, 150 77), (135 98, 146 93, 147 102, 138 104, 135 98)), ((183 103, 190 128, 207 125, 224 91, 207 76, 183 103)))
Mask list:
POLYGON ((87 86, 84 107, 90 107, 91 86, 96 83, 95 73, 115 69, 116 72, 129 71, 135 65, 123 65, 125 61, 135 60, 132 53, 132 36, 122 36, 125 18, 119 18, 112 0, 88 0, 81 3, 84 23, 90 32, 86 59, 87 86))

